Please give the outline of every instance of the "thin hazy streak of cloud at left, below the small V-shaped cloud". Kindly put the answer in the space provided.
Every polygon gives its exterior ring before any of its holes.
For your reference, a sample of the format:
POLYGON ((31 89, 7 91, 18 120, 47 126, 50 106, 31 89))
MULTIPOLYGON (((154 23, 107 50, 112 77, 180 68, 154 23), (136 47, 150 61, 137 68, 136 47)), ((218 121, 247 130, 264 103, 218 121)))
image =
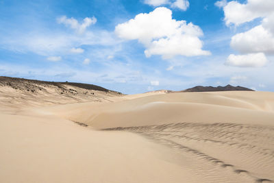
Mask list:
POLYGON ((40 56, 64 55, 67 53, 83 53, 82 45, 114 46, 121 40, 114 33, 106 30, 86 31, 84 34, 45 30, 44 32, 10 32, 0 36, 0 47, 22 53, 32 52, 40 56), (16 37, 16 39, 14 39, 16 37))

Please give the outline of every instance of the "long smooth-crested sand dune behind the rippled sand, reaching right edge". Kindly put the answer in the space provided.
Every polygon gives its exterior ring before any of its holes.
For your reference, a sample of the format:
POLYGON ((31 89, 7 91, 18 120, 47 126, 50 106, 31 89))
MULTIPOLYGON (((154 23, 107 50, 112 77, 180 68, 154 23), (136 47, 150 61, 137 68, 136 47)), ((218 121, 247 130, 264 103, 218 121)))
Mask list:
POLYGON ((273 125, 273 97, 264 92, 169 93, 51 110, 99 129, 182 122, 273 125))

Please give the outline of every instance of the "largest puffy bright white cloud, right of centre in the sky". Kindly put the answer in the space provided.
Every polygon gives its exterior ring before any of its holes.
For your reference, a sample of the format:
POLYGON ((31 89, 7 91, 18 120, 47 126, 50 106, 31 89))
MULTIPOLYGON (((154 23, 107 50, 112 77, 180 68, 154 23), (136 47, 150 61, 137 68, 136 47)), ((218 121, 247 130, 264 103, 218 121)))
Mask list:
POLYGON ((210 55, 204 51, 199 39, 203 32, 199 26, 186 21, 172 19, 168 8, 156 8, 149 14, 138 14, 134 19, 115 27, 115 33, 127 40, 138 40, 145 46, 145 56, 160 55, 162 58, 174 56, 210 55))

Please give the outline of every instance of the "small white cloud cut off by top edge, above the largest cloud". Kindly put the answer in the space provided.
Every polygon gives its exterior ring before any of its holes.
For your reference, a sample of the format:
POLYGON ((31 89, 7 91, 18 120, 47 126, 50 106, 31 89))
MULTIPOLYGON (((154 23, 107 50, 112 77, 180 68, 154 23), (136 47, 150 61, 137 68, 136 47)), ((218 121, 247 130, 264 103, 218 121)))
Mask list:
POLYGON ((144 3, 153 6, 170 5, 171 8, 178 8, 183 11, 186 11, 189 7, 188 0, 145 0, 144 3))

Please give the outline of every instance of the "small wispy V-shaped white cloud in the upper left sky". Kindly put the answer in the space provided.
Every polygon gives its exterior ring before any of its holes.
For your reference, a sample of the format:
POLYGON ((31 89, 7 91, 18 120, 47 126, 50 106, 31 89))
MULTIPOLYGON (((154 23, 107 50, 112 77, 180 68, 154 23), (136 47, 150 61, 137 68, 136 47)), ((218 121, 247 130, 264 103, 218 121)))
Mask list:
POLYGON ((71 27, 71 29, 75 29, 78 33, 85 32, 86 28, 90 25, 93 25, 97 22, 97 19, 95 16, 93 17, 86 17, 83 20, 83 23, 79 23, 76 19, 71 17, 71 19, 66 18, 66 16, 61 16, 59 19, 57 19, 58 23, 63 23, 64 25, 71 27))

